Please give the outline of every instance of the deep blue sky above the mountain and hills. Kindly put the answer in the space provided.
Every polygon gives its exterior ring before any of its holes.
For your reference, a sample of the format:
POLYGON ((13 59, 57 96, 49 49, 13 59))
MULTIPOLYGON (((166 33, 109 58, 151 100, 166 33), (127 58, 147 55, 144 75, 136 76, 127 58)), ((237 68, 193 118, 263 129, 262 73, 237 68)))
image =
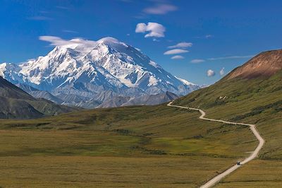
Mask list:
POLYGON ((18 63, 47 54, 53 47, 40 36, 66 40, 111 36, 140 48, 171 74, 201 85, 218 81, 259 52, 282 48, 278 0, 0 0, 0 4, 0 62, 18 63), (167 52, 171 49, 176 49, 174 54, 167 52))

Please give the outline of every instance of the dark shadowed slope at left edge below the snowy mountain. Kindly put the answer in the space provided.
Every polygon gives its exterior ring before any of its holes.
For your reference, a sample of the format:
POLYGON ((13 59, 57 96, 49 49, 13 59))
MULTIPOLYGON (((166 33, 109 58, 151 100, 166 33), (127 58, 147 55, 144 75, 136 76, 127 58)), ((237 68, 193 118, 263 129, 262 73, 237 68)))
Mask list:
POLYGON ((0 76, 0 118, 30 119, 71 112, 70 107, 35 99, 0 76))

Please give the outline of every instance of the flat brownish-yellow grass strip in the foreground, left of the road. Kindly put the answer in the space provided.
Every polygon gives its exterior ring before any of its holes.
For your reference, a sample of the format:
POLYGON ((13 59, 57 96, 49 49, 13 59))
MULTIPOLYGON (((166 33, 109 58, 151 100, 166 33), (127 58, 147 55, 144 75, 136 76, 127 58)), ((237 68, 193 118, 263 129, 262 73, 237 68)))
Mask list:
POLYGON ((3 187, 199 187, 234 160, 204 156, 0 158, 3 187))

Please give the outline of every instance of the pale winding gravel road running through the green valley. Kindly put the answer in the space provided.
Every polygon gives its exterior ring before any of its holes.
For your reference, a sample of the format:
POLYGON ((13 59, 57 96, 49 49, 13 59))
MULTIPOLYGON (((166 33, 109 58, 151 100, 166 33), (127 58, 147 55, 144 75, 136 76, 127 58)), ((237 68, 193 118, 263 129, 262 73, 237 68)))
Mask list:
MULTIPOLYGON (((197 110, 198 112, 201 113, 200 119, 204 119, 207 121, 212 121, 212 122, 221 122, 221 123, 226 123, 226 124, 240 124, 240 125, 247 125, 250 127, 250 129, 252 130, 252 133, 255 134, 255 136, 257 137, 257 140, 259 141, 259 145, 257 146, 257 148, 255 149, 255 151, 253 151, 250 156, 248 156, 247 158, 245 158, 245 160, 243 160, 242 162, 240 162, 241 165, 244 165, 245 163, 249 162, 250 160, 253 160, 254 158, 257 157, 257 155, 259 154, 259 151, 262 149, 262 146, 264 146, 264 139, 262 139, 262 136, 259 135, 259 132, 257 131, 255 124, 243 124, 243 123, 236 123, 236 122, 226 122, 220 119, 209 119, 209 118, 205 118, 204 116, 206 115, 206 113, 203 110, 197 109, 197 108, 192 108, 192 107, 182 107, 182 106, 177 106, 177 105, 171 105, 173 103, 169 102, 168 103, 168 107, 179 107, 179 108, 183 108, 183 109, 188 109, 188 110, 197 110)), ((224 172, 222 172, 219 175, 216 175, 216 177, 212 178, 212 180, 209 180, 208 182, 206 182, 205 184, 203 184, 200 188, 207 188, 207 187, 212 187, 214 186, 214 184, 216 184, 216 182, 219 182, 223 177, 226 177, 226 175, 231 174, 233 171, 235 171, 237 168, 240 168, 241 165, 233 165, 231 168, 228 168, 227 170, 225 170, 224 172)))

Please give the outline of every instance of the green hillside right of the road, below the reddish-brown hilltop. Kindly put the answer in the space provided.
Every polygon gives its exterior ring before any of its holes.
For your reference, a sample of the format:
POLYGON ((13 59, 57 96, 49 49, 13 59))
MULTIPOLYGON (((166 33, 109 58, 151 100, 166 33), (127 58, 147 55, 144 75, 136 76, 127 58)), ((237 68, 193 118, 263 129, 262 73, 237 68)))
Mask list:
POLYGON ((200 107, 208 117, 257 124, 266 144, 262 159, 282 159, 282 71, 270 78, 235 78, 197 90, 174 104, 200 107))

